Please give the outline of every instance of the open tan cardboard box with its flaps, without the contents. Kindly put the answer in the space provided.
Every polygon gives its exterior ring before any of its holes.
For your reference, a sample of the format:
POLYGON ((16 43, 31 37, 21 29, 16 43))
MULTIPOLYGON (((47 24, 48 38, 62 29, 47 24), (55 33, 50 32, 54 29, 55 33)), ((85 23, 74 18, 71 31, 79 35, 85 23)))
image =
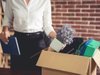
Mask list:
POLYGON ((42 75, 96 75, 96 65, 100 68, 99 50, 93 58, 43 50, 37 62, 42 75))

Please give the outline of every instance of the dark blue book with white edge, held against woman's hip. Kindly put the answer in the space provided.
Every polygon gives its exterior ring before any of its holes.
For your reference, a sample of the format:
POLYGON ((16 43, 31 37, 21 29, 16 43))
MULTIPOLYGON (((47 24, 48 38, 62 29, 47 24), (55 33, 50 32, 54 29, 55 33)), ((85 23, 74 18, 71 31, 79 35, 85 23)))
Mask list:
POLYGON ((8 43, 4 43, 2 40, 0 40, 0 42, 3 53, 9 53, 11 55, 21 55, 19 44, 16 37, 11 36, 9 38, 8 43))

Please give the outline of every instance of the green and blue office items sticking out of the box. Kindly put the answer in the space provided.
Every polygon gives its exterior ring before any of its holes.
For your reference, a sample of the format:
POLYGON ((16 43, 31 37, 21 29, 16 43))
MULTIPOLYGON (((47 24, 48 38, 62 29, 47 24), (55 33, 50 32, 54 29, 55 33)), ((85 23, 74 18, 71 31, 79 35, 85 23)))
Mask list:
POLYGON ((92 57, 97 48, 100 47, 100 42, 94 39, 89 39, 84 42, 79 49, 77 50, 76 54, 92 57))

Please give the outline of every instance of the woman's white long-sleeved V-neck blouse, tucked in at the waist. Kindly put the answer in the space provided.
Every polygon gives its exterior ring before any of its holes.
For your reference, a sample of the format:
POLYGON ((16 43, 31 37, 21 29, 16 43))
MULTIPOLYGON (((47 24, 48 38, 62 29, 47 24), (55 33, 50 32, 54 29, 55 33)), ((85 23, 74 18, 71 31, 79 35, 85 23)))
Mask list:
POLYGON ((7 0, 3 26, 12 24, 15 31, 31 33, 45 31, 48 35, 54 31, 51 19, 50 0, 7 0))

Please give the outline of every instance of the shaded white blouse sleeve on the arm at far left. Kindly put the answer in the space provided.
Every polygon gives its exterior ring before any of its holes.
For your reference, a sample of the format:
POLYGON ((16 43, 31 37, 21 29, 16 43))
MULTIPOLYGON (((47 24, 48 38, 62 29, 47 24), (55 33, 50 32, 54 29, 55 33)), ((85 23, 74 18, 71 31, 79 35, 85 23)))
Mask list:
POLYGON ((12 24, 13 11, 12 11, 12 0, 6 0, 4 19, 2 26, 10 26, 12 24))

